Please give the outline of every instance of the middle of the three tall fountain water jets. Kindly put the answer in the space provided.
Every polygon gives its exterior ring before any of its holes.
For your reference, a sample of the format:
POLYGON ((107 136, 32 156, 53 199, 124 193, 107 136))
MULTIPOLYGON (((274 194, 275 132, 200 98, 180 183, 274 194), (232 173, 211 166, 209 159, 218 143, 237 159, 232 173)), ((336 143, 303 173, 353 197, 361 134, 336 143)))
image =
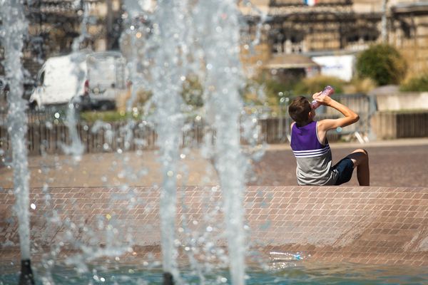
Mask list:
POLYGON ((180 105, 180 78, 184 74, 183 9, 187 1, 158 1, 153 15, 153 36, 151 44, 159 46, 153 56, 152 103, 156 105, 154 121, 158 131, 163 164, 163 187, 161 190, 161 243, 163 270, 178 279, 176 269, 175 212, 177 189, 177 164, 179 160, 180 136, 183 128, 183 114, 180 105), (177 39, 177 41, 171 40, 177 39), (165 44, 168 43, 168 44, 165 44))

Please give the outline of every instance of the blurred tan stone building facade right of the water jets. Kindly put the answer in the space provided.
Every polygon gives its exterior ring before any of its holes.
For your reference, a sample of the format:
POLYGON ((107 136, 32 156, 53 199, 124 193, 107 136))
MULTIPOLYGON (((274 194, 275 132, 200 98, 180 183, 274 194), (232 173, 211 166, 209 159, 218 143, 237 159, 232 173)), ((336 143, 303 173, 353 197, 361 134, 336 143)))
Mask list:
POLYGON ((243 33, 255 38, 263 16, 265 24, 255 53, 243 53, 247 66, 263 68, 290 54, 312 59, 355 56, 372 43, 388 42, 407 58, 410 73, 427 69, 428 1, 319 0, 315 6, 302 0, 252 3, 241 6, 249 23, 243 33))

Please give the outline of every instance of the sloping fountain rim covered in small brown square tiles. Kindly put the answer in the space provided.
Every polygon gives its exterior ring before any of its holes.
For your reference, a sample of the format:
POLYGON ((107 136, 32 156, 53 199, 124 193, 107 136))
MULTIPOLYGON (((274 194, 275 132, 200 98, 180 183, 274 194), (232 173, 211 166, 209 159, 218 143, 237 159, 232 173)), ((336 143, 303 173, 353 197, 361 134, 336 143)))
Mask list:
MULTIPOLYGON (((157 187, 31 189, 33 247, 40 253, 59 242, 69 252, 76 241, 133 244, 128 255, 157 258, 159 193, 157 187)), ((200 237, 224 246, 220 188, 183 187, 177 197, 183 248, 200 237)), ((13 206, 13 192, 1 190, 4 259, 19 255, 13 206)), ((428 188, 248 187, 244 207, 250 247, 265 257, 299 252, 320 261, 428 266, 428 188)))

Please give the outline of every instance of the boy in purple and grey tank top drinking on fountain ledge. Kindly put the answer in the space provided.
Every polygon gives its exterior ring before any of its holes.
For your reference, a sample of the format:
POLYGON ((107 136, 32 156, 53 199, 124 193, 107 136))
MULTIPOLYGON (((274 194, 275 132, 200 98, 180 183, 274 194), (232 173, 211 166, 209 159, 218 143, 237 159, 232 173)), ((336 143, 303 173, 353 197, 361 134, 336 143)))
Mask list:
POLYGON ((297 160, 299 185, 341 185, 350 181, 357 167, 361 186, 370 185, 369 156, 358 149, 332 165, 332 152, 327 141, 327 131, 356 123, 360 117, 345 105, 327 95, 315 93, 312 97, 322 105, 340 111, 344 118, 315 121, 315 108, 303 96, 292 100, 288 111, 295 122, 291 124, 291 148, 297 160))

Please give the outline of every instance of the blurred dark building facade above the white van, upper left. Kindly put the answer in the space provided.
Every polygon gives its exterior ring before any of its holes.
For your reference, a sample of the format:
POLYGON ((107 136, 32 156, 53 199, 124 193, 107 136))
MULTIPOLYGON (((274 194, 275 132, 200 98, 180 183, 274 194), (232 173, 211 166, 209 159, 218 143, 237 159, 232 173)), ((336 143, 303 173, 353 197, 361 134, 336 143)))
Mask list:
MULTIPOLYGON (((87 36, 80 48, 118 49, 123 14, 121 0, 33 0, 25 3, 29 32, 23 62, 33 77, 46 58, 71 52, 72 43, 81 35, 82 28, 86 28, 87 36), (82 27, 85 13, 87 24, 82 27)), ((0 46, 0 61, 4 57, 1 51, 0 46)))

